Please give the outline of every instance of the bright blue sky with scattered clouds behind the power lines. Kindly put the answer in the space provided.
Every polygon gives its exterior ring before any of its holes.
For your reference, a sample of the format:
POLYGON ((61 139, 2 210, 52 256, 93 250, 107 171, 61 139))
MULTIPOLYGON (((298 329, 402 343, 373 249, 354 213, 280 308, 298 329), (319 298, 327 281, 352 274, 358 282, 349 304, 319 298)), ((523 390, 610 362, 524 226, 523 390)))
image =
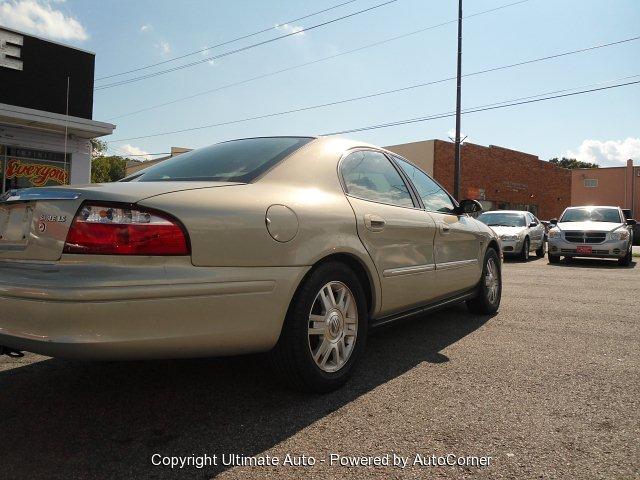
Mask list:
MULTIPOLYGON (((171 59, 268 27, 272 30, 211 50, 208 56, 361 10, 383 0, 357 0, 280 26, 345 0, 0 0, 0 24, 30 30, 96 53, 96 78, 171 59)), ((465 0, 472 14, 514 0, 465 0)), ((385 123, 455 107, 455 82, 279 117, 164 135, 118 139, 279 112, 455 75, 456 25, 420 34, 144 113, 150 105, 310 62, 456 18, 455 0, 398 0, 355 17, 201 65, 97 91, 96 120, 117 125, 112 149, 166 152, 230 138, 320 134, 385 123)), ((463 72, 472 72, 640 35, 638 0, 529 0, 469 18, 463 72)), ((163 67, 204 59, 201 54, 163 67)), ((153 69, 142 73, 152 72, 153 69)), ((463 82, 463 107, 640 75, 640 40, 485 75, 463 82)), ((127 78, 126 76, 117 77, 127 78)), ((636 78, 635 80, 638 80, 636 78)), ((97 85, 107 81, 97 82, 97 85)), ((640 164, 640 85, 463 116, 468 140, 543 159, 571 154, 602 165, 640 164)), ((389 145, 446 139, 454 118, 350 136, 389 145)))

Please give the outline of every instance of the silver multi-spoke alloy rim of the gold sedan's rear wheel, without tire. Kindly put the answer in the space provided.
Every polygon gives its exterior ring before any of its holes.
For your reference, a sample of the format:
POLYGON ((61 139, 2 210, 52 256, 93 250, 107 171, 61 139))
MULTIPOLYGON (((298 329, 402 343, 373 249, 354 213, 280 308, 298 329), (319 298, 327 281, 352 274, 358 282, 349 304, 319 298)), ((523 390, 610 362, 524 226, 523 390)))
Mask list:
POLYGON ((340 370, 351 357, 358 336, 358 307, 344 283, 325 284, 309 312, 308 338, 311 356, 324 372, 340 370))

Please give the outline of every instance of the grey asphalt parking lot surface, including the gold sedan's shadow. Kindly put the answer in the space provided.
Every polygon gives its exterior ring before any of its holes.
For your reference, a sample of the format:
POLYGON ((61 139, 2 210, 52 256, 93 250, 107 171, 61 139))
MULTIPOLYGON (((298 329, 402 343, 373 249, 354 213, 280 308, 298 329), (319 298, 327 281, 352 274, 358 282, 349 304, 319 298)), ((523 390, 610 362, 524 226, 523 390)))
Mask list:
MULTIPOLYGON (((636 262, 640 259, 635 259, 636 262)), ((504 266, 500 312, 377 332, 324 396, 263 357, 0 358, 4 478, 640 478, 640 266, 504 266), (491 456, 489 467, 154 467, 151 455, 491 456)))

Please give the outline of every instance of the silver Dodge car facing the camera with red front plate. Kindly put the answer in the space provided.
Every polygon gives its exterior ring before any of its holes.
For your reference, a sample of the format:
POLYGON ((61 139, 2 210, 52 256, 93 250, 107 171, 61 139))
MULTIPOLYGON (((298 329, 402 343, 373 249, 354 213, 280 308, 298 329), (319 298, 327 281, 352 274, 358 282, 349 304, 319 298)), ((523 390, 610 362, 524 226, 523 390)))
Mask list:
POLYGON ((620 207, 569 207, 560 219, 552 219, 549 231, 549 263, 560 257, 616 258, 629 265, 632 257, 633 226, 620 207))

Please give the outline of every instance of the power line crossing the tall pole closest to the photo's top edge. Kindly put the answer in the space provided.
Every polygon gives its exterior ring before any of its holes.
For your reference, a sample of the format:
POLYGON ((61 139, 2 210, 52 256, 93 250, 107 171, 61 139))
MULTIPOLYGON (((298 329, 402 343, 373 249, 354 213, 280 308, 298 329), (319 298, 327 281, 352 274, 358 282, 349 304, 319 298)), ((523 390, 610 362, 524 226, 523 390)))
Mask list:
MULTIPOLYGON (((467 16, 465 16, 463 18, 467 19, 467 18, 477 17, 477 16, 480 16, 480 15, 486 15, 488 13, 493 13, 493 12, 495 12, 497 10, 502 10, 503 8, 512 7, 512 6, 515 6, 515 5, 519 5, 521 3, 526 3, 528 1, 530 1, 530 0, 519 0, 517 2, 508 3, 506 5, 500 5, 498 7, 491 8, 489 10, 483 10, 481 12, 476 12, 474 14, 467 15, 467 16)), ((108 120, 117 120, 119 118, 129 117, 131 115, 136 115, 138 113, 143 113, 143 112, 148 112, 150 110, 155 110, 156 108, 161 108, 161 107, 166 107, 168 105, 173 105, 175 103, 179 103, 179 102, 182 102, 182 101, 185 101, 185 100, 191 100, 192 98, 200 97, 202 95, 207 95, 209 93, 214 93, 214 92, 218 92, 218 91, 221 91, 221 90, 225 90, 227 88, 236 87, 236 86, 239 86, 239 85, 244 85, 246 83, 250 83, 250 82, 253 82, 253 81, 256 81, 256 80, 261 80, 263 78, 267 78, 267 77, 271 77, 271 76, 274 76, 274 75, 278 75, 280 73, 289 72, 291 70, 296 70, 298 68, 303 68, 303 67, 307 67, 307 66, 310 66, 310 65, 314 65, 316 63, 324 62, 324 61, 327 61, 327 60, 332 60, 334 58, 341 57, 343 55, 349 55, 351 53, 356 53, 356 52, 359 52, 361 50, 365 50, 365 49, 372 48, 372 47, 377 47, 378 45, 382 45, 382 44, 385 44, 385 43, 393 42, 395 40, 400 40, 400 39, 403 39, 403 38, 407 38, 409 36, 417 35, 419 33, 423 33, 423 32, 426 32, 428 30, 433 30, 435 28, 442 27, 442 26, 445 26, 445 25, 449 25, 449 24, 452 24, 452 23, 455 23, 455 22, 457 22, 457 20, 449 20, 447 22, 438 23, 436 25, 430 25, 428 27, 424 27, 424 28, 421 28, 419 30, 414 30, 414 31, 409 32, 409 33, 404 33, 402 35, 397 35, 395 37, 387 38, 385 40, 380 40, 380 41, 377 41, 377 42, 374 42, 374 43, 363 45, 361 47, 354 48, 352 50, 346 50, 344 52, 340 52, 340 53, 336 53, 336 54, 333 54, 333 55, 329 55, 327 57, 322 57, 322 58, 319 58, 319 59, 316 59, 316 60, 312 60, 310 62, 301 63, 301 64, 298 64, 298 65, 294 65, 294 66, 291 66, 291 67, 283 68, 283 69, 280 69, 280 70, 275 70, 273 72, 265 73, 265 74, 258 75, 258 76, 255 76, 255 77, 250 77, 250 78, 247 78, 245 80, 239 80, 237 82, 228 83, 226 85, 221 85, 219 87, 212 88, 212 89, 209 89, 209 90, 205 90, 203 92, 194 93, 192 95, 187 95, 185 97, 179 97, 179 98, 176 98, 174 100, 167 101, 167 102, 158 103, 158 104, 155 104, 155 105, 150 105, 148 107, 144 107, 144 108, 141 108, 139 110, 135 110, 135 111, 132 111, 132 112, 128 112, 128 113, 124 113, 124 114, 121 114, 121 115, 117 115, 115 117, 111 117, 108 120)))

